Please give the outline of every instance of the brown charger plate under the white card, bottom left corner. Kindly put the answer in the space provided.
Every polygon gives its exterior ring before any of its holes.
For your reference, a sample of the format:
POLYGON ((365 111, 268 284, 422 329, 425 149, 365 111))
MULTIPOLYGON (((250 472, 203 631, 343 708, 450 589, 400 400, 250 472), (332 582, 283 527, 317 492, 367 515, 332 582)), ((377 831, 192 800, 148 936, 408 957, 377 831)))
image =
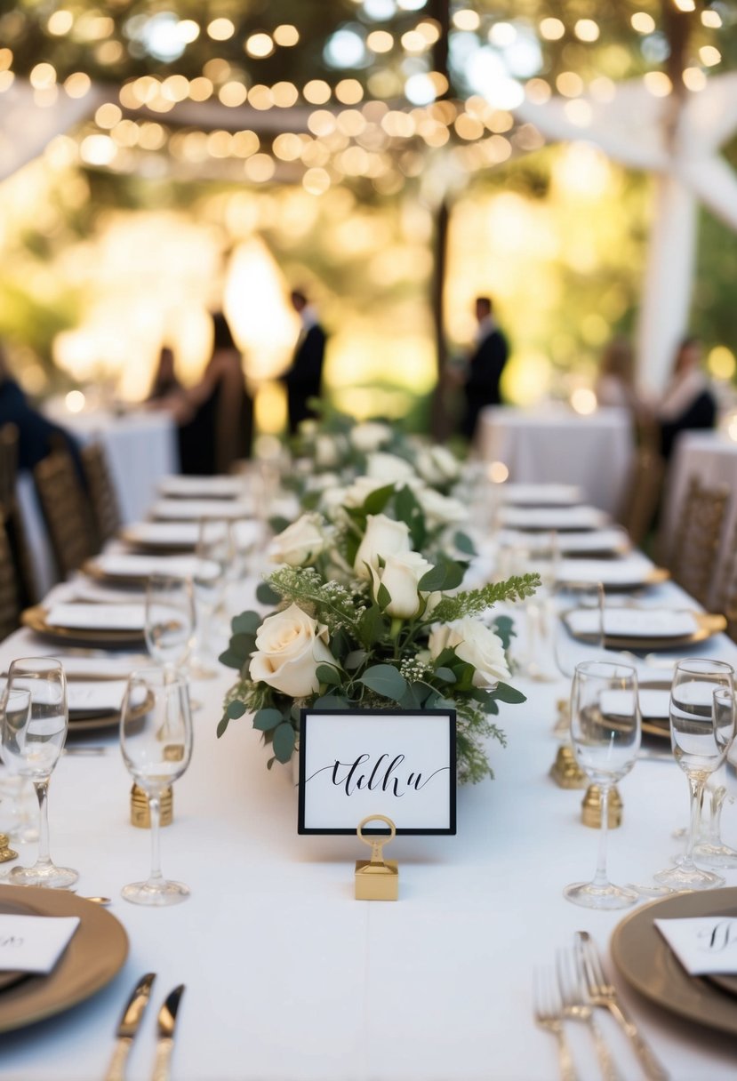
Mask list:
POLYGON ((63 890, 0 886, 0 912, 78 916, 79 926, 48 976, 28 975, 0 995, 0 1032, 53 1017, 91 998, 120 971, 128 935, 110 912, 63 890))

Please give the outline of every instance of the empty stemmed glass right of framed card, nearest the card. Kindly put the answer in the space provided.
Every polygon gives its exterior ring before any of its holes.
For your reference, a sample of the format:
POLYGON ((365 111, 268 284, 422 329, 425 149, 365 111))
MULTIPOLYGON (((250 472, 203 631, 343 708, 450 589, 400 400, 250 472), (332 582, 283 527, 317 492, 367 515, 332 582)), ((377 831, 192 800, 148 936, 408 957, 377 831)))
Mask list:
POLYGON ((606 836, 609 791, 630 772, 640 749, 640 700, 634 668, 608 660, 576 665, 571 694, 571 738, 578 764, 601 789, 601 831, 593 879, 566 886, 563 895, 585 908, 627 908, 634 904, 638 894, 609 882, 606 836))

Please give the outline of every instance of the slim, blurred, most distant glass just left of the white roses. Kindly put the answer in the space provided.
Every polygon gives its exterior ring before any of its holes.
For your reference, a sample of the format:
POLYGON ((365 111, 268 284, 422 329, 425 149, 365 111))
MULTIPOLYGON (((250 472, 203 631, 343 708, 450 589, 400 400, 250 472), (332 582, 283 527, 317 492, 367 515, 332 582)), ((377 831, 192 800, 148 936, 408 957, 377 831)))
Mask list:
POLYGON ((213 679, 216 675, 209 660, 211 623, 223 600, 228 569, 234 560, 234 553, 232 522, 227 518, 200 519, 192 575, 197 635, 189 672, 193 679, 213 679))

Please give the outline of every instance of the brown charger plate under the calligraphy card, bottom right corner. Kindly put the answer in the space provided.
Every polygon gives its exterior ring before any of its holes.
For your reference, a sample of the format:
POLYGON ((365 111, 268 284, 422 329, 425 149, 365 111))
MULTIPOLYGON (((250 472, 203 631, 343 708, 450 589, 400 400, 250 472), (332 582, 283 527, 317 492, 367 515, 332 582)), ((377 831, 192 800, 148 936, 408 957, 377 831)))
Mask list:
POLYGON ((662 897, 626 917, 612 936, 612 957, 628 984, 688 1020, 737 1036, 737 1001, 714 978, 689 976, 653 922, 696 916, 737 916, 737 889, 662 897))

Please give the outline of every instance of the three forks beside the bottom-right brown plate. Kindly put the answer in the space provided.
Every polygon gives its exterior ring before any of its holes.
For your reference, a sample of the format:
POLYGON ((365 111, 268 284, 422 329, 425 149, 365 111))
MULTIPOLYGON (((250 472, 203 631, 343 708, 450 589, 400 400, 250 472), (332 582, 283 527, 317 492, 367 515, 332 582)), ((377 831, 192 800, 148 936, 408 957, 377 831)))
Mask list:
POLYGON ((668 1073, 606 978, 591 936, 587 931, 578 931, 573 948, 559 950, 554 966, 537 969, 533 984, 535 1022, 555 1037, 562 1081, 580 1081, 565 1029, 568 1020, 585 1025, 590 1032, 604 1081, 624 1081, 598 1024, 598 1010, 608 1011, 619 1025, 647 1081, 668 1081, 668 1073))

